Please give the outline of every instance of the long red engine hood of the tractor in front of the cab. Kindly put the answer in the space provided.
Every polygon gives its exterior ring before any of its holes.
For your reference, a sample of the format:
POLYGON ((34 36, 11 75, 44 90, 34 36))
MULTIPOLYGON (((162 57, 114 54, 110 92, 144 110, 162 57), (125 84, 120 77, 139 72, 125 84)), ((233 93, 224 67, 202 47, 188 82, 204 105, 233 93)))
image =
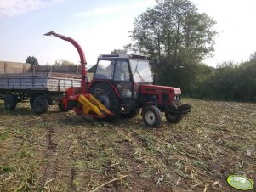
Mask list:
POLYGON ((174 95, 181 94, 180 88, 160 86, 160 85, 141 85, 141 91, 144 92, 158 92, 158 93, 174 93, 174 95))

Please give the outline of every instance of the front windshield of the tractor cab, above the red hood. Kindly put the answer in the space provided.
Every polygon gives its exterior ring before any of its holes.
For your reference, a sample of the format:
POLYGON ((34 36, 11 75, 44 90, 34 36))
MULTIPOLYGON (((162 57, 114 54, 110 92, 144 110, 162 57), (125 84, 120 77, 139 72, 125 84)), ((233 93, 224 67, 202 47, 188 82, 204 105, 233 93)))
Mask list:
POLYGON ((151 67, 147 60, 130 59, 134 82, 153 82, 151 67))

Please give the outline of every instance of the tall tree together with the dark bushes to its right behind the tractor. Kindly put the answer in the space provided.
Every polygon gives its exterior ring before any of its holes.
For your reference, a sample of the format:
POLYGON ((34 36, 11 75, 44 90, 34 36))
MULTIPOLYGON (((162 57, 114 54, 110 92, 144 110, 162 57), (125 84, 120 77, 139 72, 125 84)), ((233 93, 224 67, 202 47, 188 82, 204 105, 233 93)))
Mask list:
POLYGON ((134 20, 132 42, 124 50, 157 61, 158 83, 182 88, 186 95, 256 101, 256 54, 241 64, 203 64, 214 52, 215 24, 190 0, 157 1, 134 20))

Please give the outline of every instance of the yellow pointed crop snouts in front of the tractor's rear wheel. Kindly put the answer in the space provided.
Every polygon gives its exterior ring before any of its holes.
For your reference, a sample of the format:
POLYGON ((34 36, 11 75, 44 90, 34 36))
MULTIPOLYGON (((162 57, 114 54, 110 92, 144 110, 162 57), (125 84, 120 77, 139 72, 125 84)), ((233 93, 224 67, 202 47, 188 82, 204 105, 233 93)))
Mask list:
POLYGON ((84 114, 88 114, 93 111, 98 116, 104 116, 102 113, 105 112, 108 115, 113 115, 110 110, 108 110, 105 105, 101 104, 98 99, 96 99, 92 94, 87 95, 88 99, 84 95, 80 95, 78 101, 82 104, 82 111, 84 114))

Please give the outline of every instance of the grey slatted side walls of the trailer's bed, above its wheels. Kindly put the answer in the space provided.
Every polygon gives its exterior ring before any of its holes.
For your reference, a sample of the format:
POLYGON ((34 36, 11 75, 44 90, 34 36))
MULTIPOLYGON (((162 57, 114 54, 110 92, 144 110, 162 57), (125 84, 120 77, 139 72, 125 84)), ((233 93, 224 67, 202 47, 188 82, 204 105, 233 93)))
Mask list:
POLYGON ((44 90, 65 92, 66 88, 80 87, 81 76, 54 72, 0 74, 2 90, 44 90))

